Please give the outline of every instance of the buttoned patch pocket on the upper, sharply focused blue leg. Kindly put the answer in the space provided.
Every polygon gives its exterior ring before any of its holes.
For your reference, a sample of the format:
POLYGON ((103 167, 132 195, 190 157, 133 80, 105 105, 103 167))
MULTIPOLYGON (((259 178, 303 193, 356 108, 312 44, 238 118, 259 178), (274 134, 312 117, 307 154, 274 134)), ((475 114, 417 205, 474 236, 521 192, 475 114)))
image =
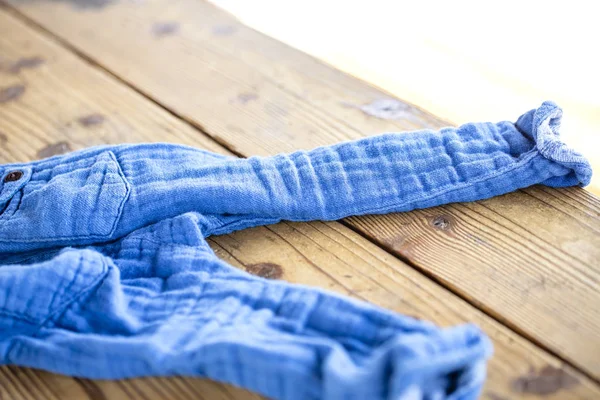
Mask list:
POLYGON ((129 194, 110 151, 71 162, 34 164, 32 170, 27 165, 11 166, 2 174, 0 241, 4 242, 108 238, 129 194))

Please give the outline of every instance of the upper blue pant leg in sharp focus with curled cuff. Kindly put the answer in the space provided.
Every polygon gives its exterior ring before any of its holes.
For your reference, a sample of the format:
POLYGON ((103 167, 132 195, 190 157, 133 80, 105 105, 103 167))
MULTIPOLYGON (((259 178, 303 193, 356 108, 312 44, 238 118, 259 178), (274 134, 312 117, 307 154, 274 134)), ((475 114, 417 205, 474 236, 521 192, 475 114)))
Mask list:
POLYGON ((3 166, 1 176, 22 175, 0 188, 0 254, 113 240, 190 211, 226 218, 228 228, 207 231, 223 233, 473 201, 538 183, 585 185, 589 163, 560 141, 560 118, 548 102, 516 124, 389 133, 273 157, 151 144, 3 166))

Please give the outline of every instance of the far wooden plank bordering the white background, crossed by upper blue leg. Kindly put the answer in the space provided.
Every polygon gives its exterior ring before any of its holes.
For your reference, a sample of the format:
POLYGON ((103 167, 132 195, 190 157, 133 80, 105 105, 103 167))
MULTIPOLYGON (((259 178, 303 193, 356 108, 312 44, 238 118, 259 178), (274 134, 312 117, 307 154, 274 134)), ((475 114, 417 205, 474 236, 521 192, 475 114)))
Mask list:
MULTIPOLYGON (((52 1, 12 4, 240 154, 445 125, 205 2, 100 3, 93 9, 52 1)), ((580 189, 531 188, 478 203, 348 222, 600 377, 595 197, 580 189), (450 228, 440 230, 434 220, 450 228)))

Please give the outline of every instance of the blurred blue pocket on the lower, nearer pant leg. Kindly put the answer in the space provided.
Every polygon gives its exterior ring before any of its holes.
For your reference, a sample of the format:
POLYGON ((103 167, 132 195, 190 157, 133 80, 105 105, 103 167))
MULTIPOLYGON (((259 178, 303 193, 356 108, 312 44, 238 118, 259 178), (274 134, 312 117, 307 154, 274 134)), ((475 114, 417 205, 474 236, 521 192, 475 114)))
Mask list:
POLYGON ((55 365, 49 349, 60 351, 60 344, 44 337, 43 329, 85 301, 111 268, 109 260, 89 249, 65 249, 38 264, 2 266, 0 287, 7 290, 0 291, 0 365, 55 365))

